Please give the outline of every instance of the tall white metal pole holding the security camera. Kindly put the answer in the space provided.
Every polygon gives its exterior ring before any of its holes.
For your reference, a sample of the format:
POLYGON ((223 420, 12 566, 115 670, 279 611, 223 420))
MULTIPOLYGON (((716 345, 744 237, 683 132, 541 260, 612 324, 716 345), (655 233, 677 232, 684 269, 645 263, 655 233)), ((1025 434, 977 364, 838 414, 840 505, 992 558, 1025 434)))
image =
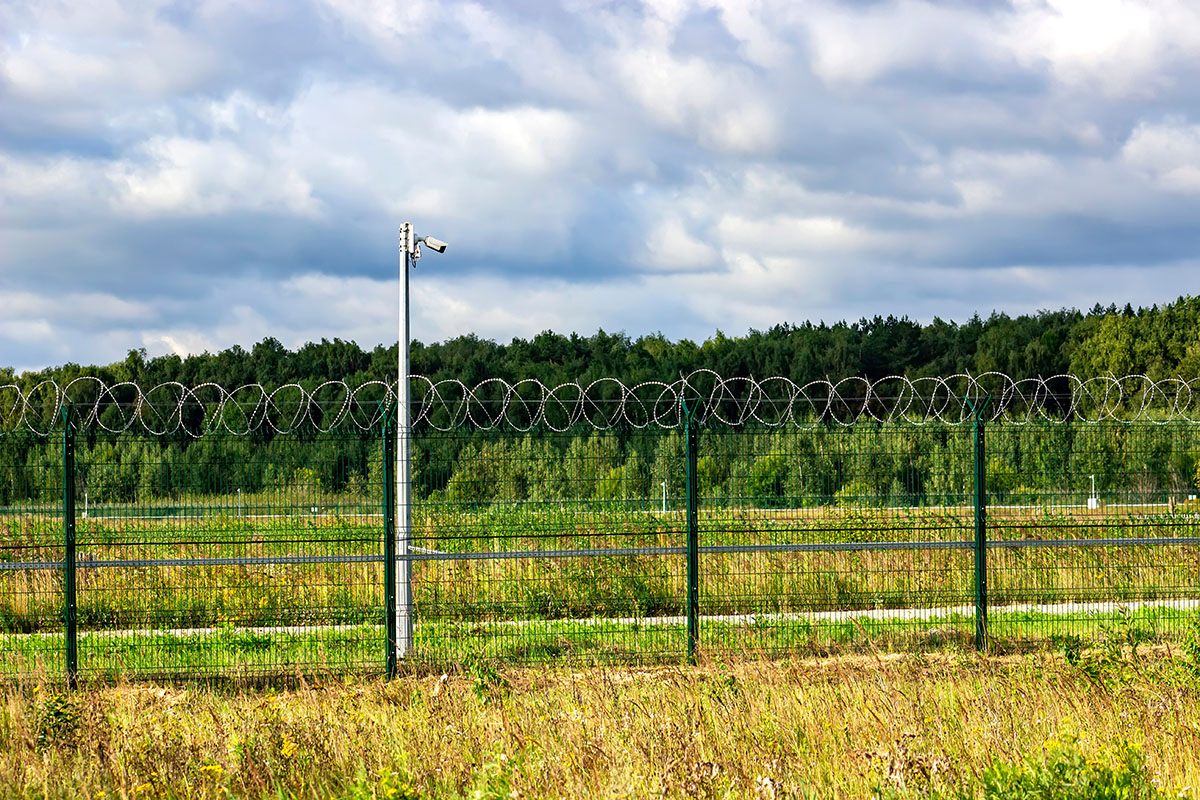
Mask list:
POLYGON ((413 530, 412 481, 409 479, 408 408, 408 269, 416 245, 413 223, 400 227, 400 356, 396 386, 396 658, 408 655, 413 644, 413 563, 408 543, 413 530))

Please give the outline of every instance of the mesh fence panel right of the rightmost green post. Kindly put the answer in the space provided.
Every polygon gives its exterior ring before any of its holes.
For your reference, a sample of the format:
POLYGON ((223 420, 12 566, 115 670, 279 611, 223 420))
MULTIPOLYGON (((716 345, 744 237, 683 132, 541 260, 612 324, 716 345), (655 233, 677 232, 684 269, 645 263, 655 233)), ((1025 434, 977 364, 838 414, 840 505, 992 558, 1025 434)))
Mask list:
POLYGON ((1178 636, 1200 607, 1200 427, 988 428, 1000 642, 1178 636))

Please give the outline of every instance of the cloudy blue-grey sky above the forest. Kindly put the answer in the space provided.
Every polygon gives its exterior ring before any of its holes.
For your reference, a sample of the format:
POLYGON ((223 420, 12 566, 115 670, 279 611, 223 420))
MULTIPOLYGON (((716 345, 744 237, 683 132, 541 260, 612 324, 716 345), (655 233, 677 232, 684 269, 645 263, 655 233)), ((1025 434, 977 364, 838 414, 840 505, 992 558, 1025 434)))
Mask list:
POLYGON ((0 2, 0 366, 1200 293, 1189 0, 0 2))

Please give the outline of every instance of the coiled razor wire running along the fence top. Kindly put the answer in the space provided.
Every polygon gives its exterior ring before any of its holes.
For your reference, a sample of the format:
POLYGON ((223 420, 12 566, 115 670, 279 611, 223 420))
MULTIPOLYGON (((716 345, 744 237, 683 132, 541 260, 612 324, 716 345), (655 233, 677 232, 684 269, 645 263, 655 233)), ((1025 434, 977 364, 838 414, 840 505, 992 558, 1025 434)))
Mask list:
MULTIPOLYGON (((964 425, 974 419, 973 409, 985 398, 990 402, 982 419, 989 422, 1200 422, 1200 378, 1154 380, 1146 375, 1010 378, 988 372, 802 384, 784 377, 722 378, 697 369, 673 381, 634 385, 617 378, 553 386, 534 378, 488 378, 467 385, 412 375, 410 390, 414 431, 677 428, 688 413, 709 426, 727 427, 805 428, 864 421, 964 425)), ((395 405, 396 385, 379 380, 356 386, 329 380, 312 390, 300 384, 269 390, 262 384, 224 389, 212 383, 143 389, 83 377, 65 385, 43 380, 29 390, 0 386, 0 432, 48 435, 61 429, 66 413, 77 428, 107 433, 366 432, 379 426, 395 405)))

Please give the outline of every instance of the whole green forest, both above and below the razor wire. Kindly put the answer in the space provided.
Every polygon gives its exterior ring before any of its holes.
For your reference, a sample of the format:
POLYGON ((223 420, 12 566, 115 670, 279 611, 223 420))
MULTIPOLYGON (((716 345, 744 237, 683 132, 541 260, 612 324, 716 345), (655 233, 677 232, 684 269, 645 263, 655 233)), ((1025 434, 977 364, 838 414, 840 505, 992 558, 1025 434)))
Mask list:
MULTIPOLYGON (((727 378, 785 375, 796 381, 988 371, 1018 379, 1061 373, 1082 378, 1140 373, 1162 379, 1200 374, 1198 333, 1200 297, 1184 296, 1152 308, 1097 307, 1086 314, 1057 311, 1015 318, 996 313, 964 324, 935 319, 922 325, 889 317, 832 326, 776 325, 736 338, 718 333, 702 344, 661 336, 631 339, 602 331, 590 337, 545 332, 508 344, 466 336, 414 344, 413 372, 468 385, 491 377, 538 378, 550 385, 587 384, 601 377, 626 384, 670 381, 701 368, 727 378)), ((22 375, 8 371, 0 374, 0 385, 12 383, 29 391, 48 379, 65 385, 94 375, 108 384, 136 381, 144 387, 211 381, 227 387, 260 383, 268 389, 298 383, 311 389, 337 379, 352 386, 390 383, 395 369, 395 345, 367 351, 334 339, 292 351, 265 339, 250 350, 234 347, 186 359, 146 357, 134 350, 125 361, 100 367, 66 365, 22 375)), ((191 431, 208 429, 203 407, 184 411, 198 415, 191 431)), ((116 414, 118 409, 108 408, 101 419, 112 423, 116 414)), ((734 503, 796 506, 931 505, 968 491, 968 426, 814 423, 817 427, 811 431, 707 431, 697 465, 701 492, 734 503)), ((1038 498, 1078 503, 1090 488, 1085 481, 1094 475, 1110 497, 1186 499, 1200 480, 1200 431, 1194 427, 1184 421, 1160 426, 1153 420, 1133 426, 994 425, 989 494, 1002 503, 1038 498)), ((282 435, 264 426, 245 437, 223 433, 199 439, 185 431, 162 437, 140 428, 121 434, 82 431, 77 480, 94 501, 118 504, 239 492, 305 505, 318 495, 378 498, 384 480, 382 429, 350 428, 282 435)), ((462 505, 649 503, 664 482, 668 494, 678 497, 684 480, 682 434, 653 428, 600 433, 582 426, 552 435, 427 431, 416 434, 413 456, 416 497, 462 505)), ((61 492, 61 458, 56 435, 28 431, 0 435, 0 505, 53 500, 61 492)))

